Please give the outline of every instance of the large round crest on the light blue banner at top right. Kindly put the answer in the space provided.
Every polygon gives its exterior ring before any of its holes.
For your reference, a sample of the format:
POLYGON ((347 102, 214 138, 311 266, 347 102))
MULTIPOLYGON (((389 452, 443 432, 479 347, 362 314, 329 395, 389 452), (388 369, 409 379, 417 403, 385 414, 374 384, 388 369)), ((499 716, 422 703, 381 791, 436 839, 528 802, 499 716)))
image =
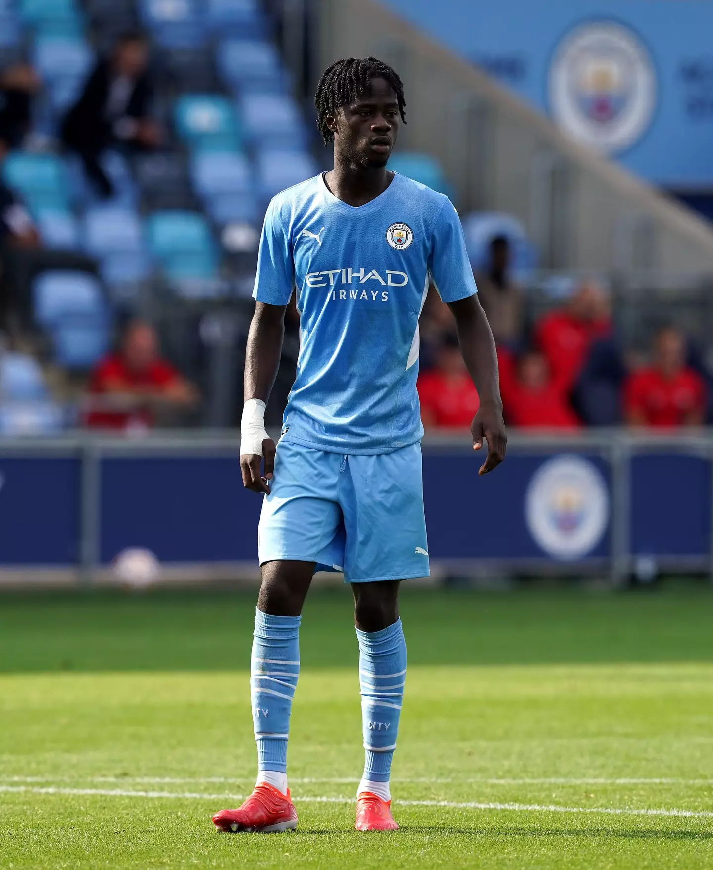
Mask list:
POLYGON ((555 122, 580 142, 615 153, 636 143, 656 107, 656 74, 641 40, 622 24, 582 24, 549 70, 555 122))

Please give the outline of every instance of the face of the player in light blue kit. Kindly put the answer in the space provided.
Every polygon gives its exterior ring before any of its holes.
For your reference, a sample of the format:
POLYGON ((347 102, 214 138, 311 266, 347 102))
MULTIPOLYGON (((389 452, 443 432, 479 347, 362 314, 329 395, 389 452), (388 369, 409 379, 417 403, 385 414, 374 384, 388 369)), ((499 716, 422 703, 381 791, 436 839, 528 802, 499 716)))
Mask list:
POLYGON ((370 90, 333 119, 334 143, 349 163, 386 166, 399 130, 399 104, 390 84, 374 78, 370 90))

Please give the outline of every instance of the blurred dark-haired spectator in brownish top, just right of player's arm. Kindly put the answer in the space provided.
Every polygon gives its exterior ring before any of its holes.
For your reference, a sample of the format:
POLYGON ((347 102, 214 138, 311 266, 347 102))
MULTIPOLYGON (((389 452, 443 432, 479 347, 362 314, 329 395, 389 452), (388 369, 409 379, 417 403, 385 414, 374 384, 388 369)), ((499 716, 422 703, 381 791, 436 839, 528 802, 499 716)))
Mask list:
POLYGON ((510 277, 510 262, 508 238, 495 236, 490 242, 488 269, 476 272, 475 281, 495 342, 516 347, 522 334, 522 294, 510 277))

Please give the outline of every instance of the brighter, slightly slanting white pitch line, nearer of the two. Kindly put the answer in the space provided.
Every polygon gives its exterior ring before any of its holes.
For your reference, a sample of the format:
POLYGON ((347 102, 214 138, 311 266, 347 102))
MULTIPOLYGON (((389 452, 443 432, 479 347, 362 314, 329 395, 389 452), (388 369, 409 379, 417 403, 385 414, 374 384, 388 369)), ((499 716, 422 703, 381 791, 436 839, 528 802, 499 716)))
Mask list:
MULTIPOLYGON (((0 792, 33 794, 100 795, 120 798, 168 798, 174 800, 243 800, 242 794, 203 794, 198 792, 135 792, 123 788, 64 788, 57 786, 0 786, 0 792)), ((353 804, 346 797, 296 797, 299 803, 353 804)), ((713 812, 706 810, 656 809, 619 806, 558 806, 556 804, 481 803, 467 800, 399 800, 399 806, 443 806, 448 809, 500 810, 515 813, 594 813, 606 815, 678 816, 682 818, 711 819, 713 812)))

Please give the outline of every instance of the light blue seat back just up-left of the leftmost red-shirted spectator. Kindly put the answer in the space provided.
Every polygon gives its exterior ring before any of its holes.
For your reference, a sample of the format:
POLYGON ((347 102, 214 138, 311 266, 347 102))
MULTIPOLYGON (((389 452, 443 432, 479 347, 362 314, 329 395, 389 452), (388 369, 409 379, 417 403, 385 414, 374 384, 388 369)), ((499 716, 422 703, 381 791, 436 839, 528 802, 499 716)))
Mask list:
POLYGON ((104 294, 97 278, 83 271, 45 271, 32 284, 37 323, 53 329, 66 318, 107 319, 104 294))

